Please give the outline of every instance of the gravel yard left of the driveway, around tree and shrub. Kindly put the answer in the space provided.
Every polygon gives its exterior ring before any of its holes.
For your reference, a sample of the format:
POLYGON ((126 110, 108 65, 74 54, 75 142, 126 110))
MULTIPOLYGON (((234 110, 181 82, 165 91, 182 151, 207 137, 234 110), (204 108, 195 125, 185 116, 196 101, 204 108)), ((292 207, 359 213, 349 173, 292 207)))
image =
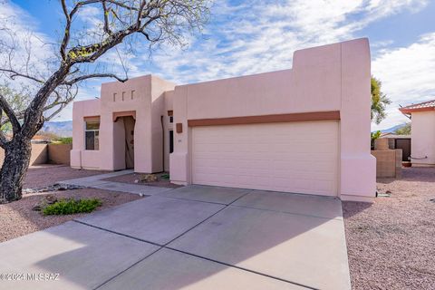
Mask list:
MULTIPOLYGON (((41 188, 64 179, 80 178, 99 174, 99 171, 77 170, 69 167, 43 166, 28 171, 24 188, 41 188)), ((101 189, 75 189, 66 191, 26 194, 20 200, 0 205, 0 242, 24 236, 46 227, 60 225, 73 218, 86 214, 68 216, 43 216, 32 210, 44 195, 53 194, 57 198, 100 198, 102 207, 96 210, 111 208, 140 198, 138 195, 101 189)))

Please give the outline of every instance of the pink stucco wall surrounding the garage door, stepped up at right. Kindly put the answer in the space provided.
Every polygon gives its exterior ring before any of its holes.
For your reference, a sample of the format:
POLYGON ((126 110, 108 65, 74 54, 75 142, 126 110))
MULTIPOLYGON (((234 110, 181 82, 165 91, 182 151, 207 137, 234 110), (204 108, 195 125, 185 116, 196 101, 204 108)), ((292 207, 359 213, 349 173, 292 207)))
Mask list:
POLYGON ((339 196, 370 201, 376 161, 370 154, 370 49, 367 39, 294 53, 292 70, 177 86, 171 180, 191 182, 188 120, 340 111, 339 196))

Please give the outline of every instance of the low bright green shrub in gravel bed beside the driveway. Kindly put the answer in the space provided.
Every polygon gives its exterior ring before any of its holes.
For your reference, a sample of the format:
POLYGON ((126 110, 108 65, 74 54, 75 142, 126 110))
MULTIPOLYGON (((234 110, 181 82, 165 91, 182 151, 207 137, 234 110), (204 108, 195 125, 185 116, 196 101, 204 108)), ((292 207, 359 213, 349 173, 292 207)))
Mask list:
POLYGON ((43 215, 72 215, 82 212, 92 212, 95 208, 102 205, 102 201, 97 198, 85 199, 61 199, 53 205, 43 208, 43 215))

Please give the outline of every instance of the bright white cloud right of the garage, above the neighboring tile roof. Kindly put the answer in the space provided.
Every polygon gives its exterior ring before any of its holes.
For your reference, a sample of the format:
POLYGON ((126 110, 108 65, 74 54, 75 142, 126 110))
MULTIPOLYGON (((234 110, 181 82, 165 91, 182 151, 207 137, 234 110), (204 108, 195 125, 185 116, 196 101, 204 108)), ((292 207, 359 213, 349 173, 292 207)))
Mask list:
POLYGON ((387 119, 373 129, 407 121, 399 105, 435 99, 435 33, 423 35, 410 46, 383 51, 372 61, 372 73, 392 101, 387 119))

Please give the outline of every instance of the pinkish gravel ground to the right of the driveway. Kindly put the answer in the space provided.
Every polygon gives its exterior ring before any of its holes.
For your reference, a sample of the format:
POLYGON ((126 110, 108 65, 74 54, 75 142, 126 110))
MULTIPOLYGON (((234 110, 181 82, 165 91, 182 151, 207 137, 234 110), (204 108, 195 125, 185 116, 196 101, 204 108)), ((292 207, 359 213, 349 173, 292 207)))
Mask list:
POLYGON ((353 289, 435 289, 435 169, 377 187, 391 196, 343 203, 353 289))

